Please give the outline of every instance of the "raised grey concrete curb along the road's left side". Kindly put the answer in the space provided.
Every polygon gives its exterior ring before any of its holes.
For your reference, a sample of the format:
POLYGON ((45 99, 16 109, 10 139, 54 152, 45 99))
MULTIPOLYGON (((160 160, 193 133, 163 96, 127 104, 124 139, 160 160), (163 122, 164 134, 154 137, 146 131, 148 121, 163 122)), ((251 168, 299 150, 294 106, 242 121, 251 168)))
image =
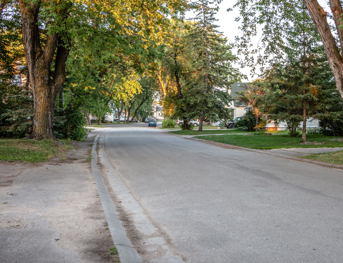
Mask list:
POLYGON ((128 239, 125 233, 125 228, 121 225, 121 221, 116 212, 115 206, 107 192, 104 180, 100 174, 100 170, 97 166, 96 146, 99 137, 104 131, 100 132, 94 139, 92 147, 92 172, 96 188, 99 194, 101 204, 104 209, 105 217, 108 223, 108 228, 112 236, 112 240, 116 248, 118 249, 119 260, 121 263, 141 263, 142 259, 138 252, 133 247, 131 241, 128 239))

